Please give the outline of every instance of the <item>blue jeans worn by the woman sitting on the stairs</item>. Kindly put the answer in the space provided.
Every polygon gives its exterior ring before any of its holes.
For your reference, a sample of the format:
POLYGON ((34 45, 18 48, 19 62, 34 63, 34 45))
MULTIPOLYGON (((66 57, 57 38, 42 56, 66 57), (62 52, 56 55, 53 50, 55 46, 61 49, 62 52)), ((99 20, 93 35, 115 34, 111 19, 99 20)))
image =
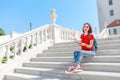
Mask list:
POLYGON ((80 62, 83 59, 83 56, 93 57, 94 55, 95 55, 94 51, 85 51, 85 50, 74 51, 74 63, 75 64, 80 64, 80 62))

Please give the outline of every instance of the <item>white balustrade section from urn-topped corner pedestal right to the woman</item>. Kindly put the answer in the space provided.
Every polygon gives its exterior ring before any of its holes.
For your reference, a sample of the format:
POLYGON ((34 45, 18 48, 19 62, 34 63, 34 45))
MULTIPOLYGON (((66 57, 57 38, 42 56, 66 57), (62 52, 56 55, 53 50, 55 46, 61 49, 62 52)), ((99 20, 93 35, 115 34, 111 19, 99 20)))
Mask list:
POLYGON ((52 30, 52 39, 54 40, 53 43, 60 43, 60 42, 71 42, 73 41, 73 38, 79 38, 80 32, 74 31, 71 29, 63 28, 56 24, 51 24, 50 27, 52 30))

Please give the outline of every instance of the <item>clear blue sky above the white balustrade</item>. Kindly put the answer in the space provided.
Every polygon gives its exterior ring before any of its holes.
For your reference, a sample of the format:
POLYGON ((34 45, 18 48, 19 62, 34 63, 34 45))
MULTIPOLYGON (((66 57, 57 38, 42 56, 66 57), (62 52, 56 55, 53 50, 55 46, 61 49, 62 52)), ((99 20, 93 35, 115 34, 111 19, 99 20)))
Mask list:
POLYGON ((0 0, 0 28, 24 33, 51 24, 50 10, 56 9, 56 24, 82 31, 84 23, 99 27, 96 0, 0 0))

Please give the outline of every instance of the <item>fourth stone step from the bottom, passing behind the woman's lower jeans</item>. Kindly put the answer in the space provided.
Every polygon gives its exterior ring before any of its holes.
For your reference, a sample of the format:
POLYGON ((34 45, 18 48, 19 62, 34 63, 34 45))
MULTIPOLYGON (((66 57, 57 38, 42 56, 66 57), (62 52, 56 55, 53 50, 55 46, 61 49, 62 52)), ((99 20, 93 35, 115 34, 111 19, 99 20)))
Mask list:
MULTIPOLYGON (((73 56, 69 57, 37 57, 31 58, 31 62, 73 62, 73 56)), ((119 63, 120 56, 95 56, 83 58, 83 62, 112 62, 119 63)))

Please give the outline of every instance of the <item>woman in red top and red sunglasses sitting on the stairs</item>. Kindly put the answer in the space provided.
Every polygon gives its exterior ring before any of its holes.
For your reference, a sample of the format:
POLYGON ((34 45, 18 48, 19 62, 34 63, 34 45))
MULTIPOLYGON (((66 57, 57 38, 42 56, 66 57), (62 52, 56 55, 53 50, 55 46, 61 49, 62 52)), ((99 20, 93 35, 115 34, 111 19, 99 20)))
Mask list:
POLYGON ((80 51, 74 51, 74 63, 72 66, 65 71, 65 73, 73 73, 83 71, 80 62, 82 61, 83 56, 94 56, 94 36, 92 33, 92 28, 89 23, 83 25, 83 34, 80 36, 81 41, 76 43, 81 47, 80 51), (89 37, 90 36, 90 37, 89 37), (90 39, 89 39, 90 38, 90 39))

